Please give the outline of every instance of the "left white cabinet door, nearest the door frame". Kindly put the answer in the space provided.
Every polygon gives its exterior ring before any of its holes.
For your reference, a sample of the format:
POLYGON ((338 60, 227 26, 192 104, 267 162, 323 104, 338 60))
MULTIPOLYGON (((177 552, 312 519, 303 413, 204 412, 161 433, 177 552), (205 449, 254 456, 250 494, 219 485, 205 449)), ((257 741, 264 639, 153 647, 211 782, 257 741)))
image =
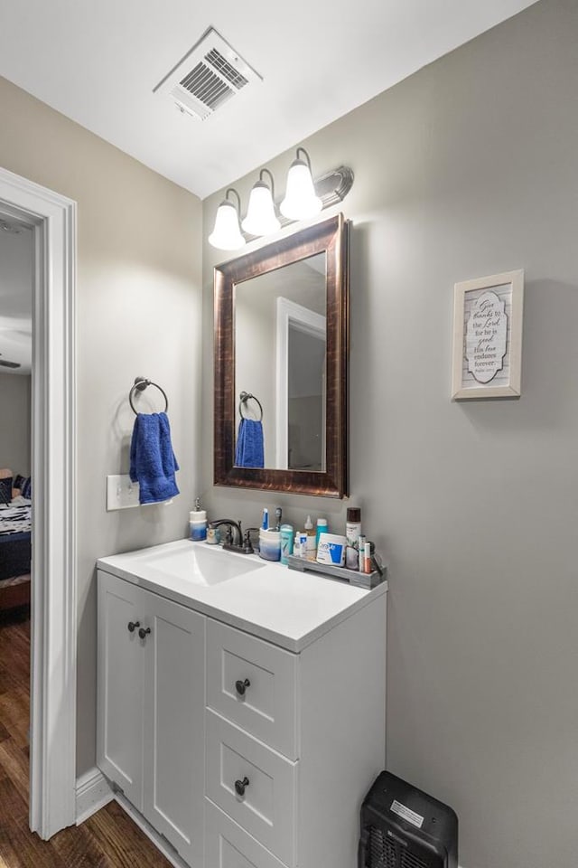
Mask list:
POLYGON ((98 768, 143 809, 143 592, 98 571, 98 768), (129 625, 134 628, 131 630, 129 625))

